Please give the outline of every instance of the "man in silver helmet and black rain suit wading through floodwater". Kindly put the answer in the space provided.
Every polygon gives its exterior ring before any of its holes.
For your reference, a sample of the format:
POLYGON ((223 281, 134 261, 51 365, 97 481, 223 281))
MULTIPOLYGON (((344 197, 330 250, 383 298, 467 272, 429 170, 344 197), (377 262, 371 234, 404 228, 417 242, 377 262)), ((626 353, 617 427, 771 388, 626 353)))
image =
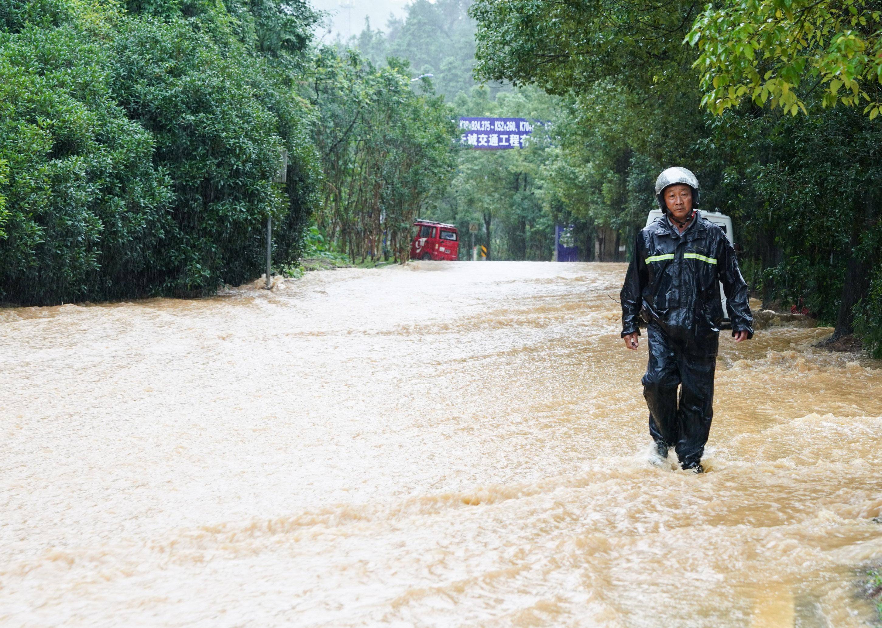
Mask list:
POLYGON ((627 348, 636 349, 639 317, 645 317, 649 364, 643 396, 655 441, 650 462, 662 464, 674 447, 681 467, 702 473, 723 318, 719 282, 736 342, 753 337, 753 318, 735 250, 721 228, 693 209, 699 205, 695 175, 668 168, 655 181, 655 196, 662 217, 638 234, 624 278, 622 338, 627 348))

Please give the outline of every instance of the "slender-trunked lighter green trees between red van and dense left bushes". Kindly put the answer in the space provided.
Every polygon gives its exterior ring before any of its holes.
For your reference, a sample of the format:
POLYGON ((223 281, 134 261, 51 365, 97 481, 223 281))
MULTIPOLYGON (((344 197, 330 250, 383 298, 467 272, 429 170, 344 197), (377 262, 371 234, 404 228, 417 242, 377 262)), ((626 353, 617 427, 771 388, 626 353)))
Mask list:
POLYGON ((407 259, 414 219, 452 174, 452 112, 392 57, 377 69, 325 48, 308 85, 325 172, 318 227, 353 262, 407 259))

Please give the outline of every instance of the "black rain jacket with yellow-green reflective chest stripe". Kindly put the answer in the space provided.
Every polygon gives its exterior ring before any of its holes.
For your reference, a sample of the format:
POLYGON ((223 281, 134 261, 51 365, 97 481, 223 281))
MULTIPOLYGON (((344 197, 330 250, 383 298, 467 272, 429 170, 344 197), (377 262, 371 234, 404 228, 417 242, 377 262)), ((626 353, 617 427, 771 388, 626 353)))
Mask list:
POLYGON ((622 336, 639 333, 641 310, 647 322, 675 327, 694 336, 719 331, 723 317, 720 285, 726 294, 732 334, 753 337, 747 284, 735 250, 722 229, 696 213, 677 235, 662 216, 637 235, 622 287, 622 336))

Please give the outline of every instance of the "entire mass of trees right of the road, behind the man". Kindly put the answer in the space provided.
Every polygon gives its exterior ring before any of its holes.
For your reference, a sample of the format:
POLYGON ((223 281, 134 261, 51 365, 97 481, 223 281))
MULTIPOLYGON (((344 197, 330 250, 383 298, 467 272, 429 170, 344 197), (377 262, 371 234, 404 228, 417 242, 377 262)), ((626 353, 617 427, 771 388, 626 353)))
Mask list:
MULTIPOLYGON (((691 168, 704 207, 736 219, 744 268, 767 305, 808 307, 837 336, 856 328, 882 351, 870 291, 882 276, 882 131, 872 107, 833 98, 848 84, 874 102, 876 62, 861 54, 875 55, 878 15, 860 3, 793 3, 796 14, 779 7, 739 30, 750 14, 740 4, 699 14, 686 2, 478 0, 477 69, 564 99, 572 127, 559 133, 550 170, 557 185, 548 183, 572 213, 630 239, 652 204, 654 176, 691 168), (810 14, 811 41, 802 20, 810 14), (848 46, 847 27, 855 29, 848 46), (703 115, 702 100, 721 115, 703 115), (803 110, 811 115, 793 116, 803 110)), ((768 6, 778 4, 789 5, 768 6)))

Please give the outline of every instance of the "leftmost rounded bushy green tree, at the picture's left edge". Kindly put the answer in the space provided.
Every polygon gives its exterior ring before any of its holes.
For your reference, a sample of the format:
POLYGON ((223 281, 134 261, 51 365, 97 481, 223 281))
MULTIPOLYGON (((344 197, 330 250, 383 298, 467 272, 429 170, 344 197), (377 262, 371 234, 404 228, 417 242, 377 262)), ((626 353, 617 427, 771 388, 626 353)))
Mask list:
POLYGON ((57 16, 0 33, 0 290, 17 303, 131 294, 120 282, 148 272, 170 224, 168 178, 112 96, 107 50, 57 16))

